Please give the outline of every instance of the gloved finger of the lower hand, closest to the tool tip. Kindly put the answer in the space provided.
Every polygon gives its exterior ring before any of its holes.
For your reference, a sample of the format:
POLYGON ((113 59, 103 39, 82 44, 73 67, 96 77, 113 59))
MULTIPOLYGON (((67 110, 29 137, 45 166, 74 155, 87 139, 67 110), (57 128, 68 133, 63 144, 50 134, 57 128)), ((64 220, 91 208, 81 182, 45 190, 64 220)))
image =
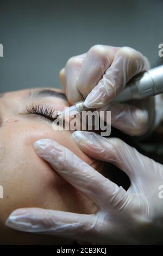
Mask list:
POLYGON ((123 170, 132 181, 136 176, 146 174, 152 160, 140 154, 135 148, 118 138, 104 138, 94 132, 75 131, 73 138, 87 155, 93 159, 113 163, 123 170))

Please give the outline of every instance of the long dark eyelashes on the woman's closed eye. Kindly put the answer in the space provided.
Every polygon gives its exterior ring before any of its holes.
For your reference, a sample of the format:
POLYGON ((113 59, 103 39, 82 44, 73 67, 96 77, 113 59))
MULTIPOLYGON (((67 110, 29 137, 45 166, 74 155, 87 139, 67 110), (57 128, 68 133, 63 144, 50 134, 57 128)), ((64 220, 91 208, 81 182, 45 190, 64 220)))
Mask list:
POLYGON ((57 109, 46 105, 30 105, 27 107, 28 114, 37 114, 54 121, 58 117, 57 109))

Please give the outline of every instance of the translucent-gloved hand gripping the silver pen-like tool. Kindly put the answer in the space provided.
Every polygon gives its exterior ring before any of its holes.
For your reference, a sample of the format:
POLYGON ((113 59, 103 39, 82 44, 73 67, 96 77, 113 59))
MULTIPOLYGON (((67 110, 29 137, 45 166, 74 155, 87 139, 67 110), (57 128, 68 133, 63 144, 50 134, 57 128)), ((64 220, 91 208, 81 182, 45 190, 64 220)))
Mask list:
MULTIPOLYGON (((60 71, 61 84, 73 105, 85 99, 88 108, 111 102, 135 75, 150 68, 148 59, 130 47, 95 45, 70 58, 60 71)), ((130 136, 150 133, 154 126, 154 97, 140 102, 111 103, 111 125, 130 136)))

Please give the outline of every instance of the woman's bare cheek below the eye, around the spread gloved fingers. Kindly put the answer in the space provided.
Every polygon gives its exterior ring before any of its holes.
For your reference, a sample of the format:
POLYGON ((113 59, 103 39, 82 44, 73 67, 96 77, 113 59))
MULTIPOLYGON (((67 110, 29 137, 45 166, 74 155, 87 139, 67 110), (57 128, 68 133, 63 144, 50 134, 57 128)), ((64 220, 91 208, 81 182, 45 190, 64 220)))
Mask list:
POLYGON ((3 141, 0 179, 4 187, 4 200, 0 200, 0 215, 4 220, 17 208, 73 211, 77 207, 74 205, 80 202, 77 191, 35 153, 33 143, 42 138, 54 139, 85 162, 93 164, 93 160, 82 153, 68 131, 53 131, 45 124, 29 124, 26 121, 3 127, 0 133, 0 141, 3 141))

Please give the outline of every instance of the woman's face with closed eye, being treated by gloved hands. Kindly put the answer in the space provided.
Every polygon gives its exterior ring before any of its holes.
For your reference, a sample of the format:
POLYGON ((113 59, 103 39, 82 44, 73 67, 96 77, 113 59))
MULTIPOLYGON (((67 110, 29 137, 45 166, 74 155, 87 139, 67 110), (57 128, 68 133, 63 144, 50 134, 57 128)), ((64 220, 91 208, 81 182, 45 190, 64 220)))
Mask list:
MULTIPOLYGON (((98 162, 87 157, 74 143, 71 131, 54 131, 52 121, 28 113, 38 106, 62 111, 68 106, 60 90, 40 88, 9 92, 0 97, 0 240, 4 243, 59 243, 61 239, 26 234, 5 227, 10 212, 17 208, 92 213, 96 206, 62 179, 34 151, 33 143, 50 138, 73 151, 80 159, 98 168, 98 162)), ((64 240, 64 243, 66 241, 64 240)))

